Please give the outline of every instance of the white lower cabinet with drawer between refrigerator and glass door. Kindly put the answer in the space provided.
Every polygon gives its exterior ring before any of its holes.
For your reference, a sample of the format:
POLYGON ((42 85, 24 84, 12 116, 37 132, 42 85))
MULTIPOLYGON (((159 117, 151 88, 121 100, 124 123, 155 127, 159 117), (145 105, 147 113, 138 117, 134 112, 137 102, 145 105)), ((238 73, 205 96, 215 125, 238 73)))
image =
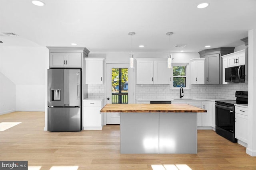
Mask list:
POLYGON ((84 130, 102 130, 104 125, 104 113, 100 113, 103 100, 84 100, 83 125, 84 130))

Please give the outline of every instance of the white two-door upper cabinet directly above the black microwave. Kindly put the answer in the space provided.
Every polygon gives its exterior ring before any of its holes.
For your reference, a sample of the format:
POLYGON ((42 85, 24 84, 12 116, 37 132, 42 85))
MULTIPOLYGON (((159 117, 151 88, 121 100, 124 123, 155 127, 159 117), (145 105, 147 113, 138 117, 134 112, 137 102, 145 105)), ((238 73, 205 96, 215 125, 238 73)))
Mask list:
POLYGON ((237 51, 228 55, 223 55, 222 58, 227 58, 227 67, 239 66, 245 64, 245 51, 237 51))

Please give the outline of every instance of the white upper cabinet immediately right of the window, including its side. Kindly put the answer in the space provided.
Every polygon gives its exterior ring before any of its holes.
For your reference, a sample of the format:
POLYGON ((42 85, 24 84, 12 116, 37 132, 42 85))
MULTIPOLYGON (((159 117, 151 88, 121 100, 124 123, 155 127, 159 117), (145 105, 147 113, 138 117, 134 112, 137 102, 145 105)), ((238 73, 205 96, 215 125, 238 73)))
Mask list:
POLYGON ((205 59, 190 60, 190 82, 191 84, 204 84, 204 62, 205 59))

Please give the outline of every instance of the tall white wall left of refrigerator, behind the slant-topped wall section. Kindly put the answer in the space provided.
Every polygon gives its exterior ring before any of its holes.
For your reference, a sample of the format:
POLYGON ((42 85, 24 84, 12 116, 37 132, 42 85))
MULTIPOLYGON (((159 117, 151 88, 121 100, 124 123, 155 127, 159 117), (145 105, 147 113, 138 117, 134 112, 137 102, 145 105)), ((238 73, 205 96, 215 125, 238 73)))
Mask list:
MULTIPOLYGON (((17 111, 44 111, 44 72, 48 49, 1 43, 0 71, 16 85, 17 111)), ((1 94, 2 97, 2 94, 1 94)))

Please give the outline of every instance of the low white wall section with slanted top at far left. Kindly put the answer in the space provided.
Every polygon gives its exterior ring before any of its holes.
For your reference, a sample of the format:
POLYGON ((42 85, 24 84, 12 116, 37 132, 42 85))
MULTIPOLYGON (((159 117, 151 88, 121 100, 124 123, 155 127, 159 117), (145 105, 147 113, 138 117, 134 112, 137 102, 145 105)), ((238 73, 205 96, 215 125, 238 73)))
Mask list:
POLYGON ((0 115, 16 111, 15 84, 0 72, 0 115))

